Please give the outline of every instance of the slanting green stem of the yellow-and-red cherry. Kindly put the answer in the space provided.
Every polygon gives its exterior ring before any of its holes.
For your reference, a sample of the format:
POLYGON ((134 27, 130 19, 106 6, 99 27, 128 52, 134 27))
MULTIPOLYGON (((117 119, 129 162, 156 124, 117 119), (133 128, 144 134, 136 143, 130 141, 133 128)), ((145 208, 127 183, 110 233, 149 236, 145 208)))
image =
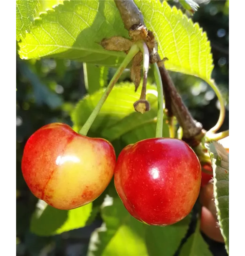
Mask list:
POLYGON ((107 97, 109 96, 113 86, 116 84, 116 82, 118 81, 119 77, 121 76, 122 72, 124 71, 124 69, 128 66, 128 64, 130 63, 130 61, 133 59, 133 57, 140 51, 140 48, 138 45, 134 44, 132 45, 132 47, 130 48, 127 56, 125 57, 125 59, 122 61, 120 67, 118 68, 118 70, 116 71, 116 73, 114 74, 114 76, 112 77, 112 80, 110 81, 109 85, 107 86, 107 88, 105 89, 102 97, 100 98, 99 102, 97 103, 95 109, 93 110, 93 112, 90 114, 89 118, 87 119, 86 123, 84 124, 84 126, 82 127, 82 129, 79 131, 79 133, 81 135, 86 136, 88 133, 88 130, 90 129, 93 121, 95 120, 96 116, 99 114, 100 109, 102 108, 105 100, 107 99, 107 97))

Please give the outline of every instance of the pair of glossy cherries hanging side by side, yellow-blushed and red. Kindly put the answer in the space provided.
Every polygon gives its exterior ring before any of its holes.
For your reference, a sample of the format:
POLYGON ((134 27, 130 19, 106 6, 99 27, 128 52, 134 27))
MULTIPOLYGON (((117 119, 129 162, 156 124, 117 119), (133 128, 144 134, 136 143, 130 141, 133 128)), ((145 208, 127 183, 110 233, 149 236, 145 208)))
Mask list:
POLYGON ((201 165, 182 140, 152 138, 126 146, 76 133, 66 124, 48 124, 28 139, 21 168, 31 192, 49 205, 69 210, 95 200, 114 175, 129 213, 149 225, 171 225, 196 202, 201 165))

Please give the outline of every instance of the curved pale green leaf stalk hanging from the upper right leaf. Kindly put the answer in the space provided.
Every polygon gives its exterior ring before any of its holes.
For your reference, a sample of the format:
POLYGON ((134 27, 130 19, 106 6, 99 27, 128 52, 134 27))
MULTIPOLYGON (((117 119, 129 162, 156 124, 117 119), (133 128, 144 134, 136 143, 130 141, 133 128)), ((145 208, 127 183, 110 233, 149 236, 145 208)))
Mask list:
POLYGON ((223 124, 224 119, 225 119, 226 109, 225 109, 225 102, 222 97, 222 94, 221 94, 220 90, 218 89, 217 85, 215 84, 214 80, 205 80, 205 82, 207 82, 212 87, 212 89, 214 90, 214 92, 219 100, 219 104, 220 104, 219 119, 217 121, 217 124, 213 128, 211 128, 209 131, 206 132, 206 135, 208 135, 207 137, 210 137, 211 134, 216 132, 223 124))

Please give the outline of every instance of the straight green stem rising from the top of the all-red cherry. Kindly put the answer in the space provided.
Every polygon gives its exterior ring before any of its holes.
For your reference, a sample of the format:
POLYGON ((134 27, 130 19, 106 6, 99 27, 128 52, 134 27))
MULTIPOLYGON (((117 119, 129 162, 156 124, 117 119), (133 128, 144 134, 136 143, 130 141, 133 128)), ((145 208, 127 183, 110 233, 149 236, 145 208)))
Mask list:
POLYGON ((162 89, 162 79, 157 66, 154 63, 154 76, 157 84, 157 128, 156 128, 156 138, 162 138, 162 127, 163 127, 163 89, 162 89))

